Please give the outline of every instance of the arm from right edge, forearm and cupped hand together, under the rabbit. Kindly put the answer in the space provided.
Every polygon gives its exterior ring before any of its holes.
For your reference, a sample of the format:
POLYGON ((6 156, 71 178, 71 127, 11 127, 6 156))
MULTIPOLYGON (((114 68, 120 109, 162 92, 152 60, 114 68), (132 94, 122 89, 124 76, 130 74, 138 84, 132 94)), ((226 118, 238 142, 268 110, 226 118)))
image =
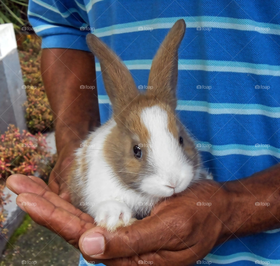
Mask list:
POLYGON ((35 193, 20 194, 17 204, 37 223, 59 232, 69 243, 79 244, 88 261, 106 262, 109 266, 136 265, 139 260, 153 261, 154 265, 189 265, 230 237, 280 227, 280 164, 243 180, 204 180, 158 204, 150 216, 112 234, 93 223, 85 227, 78 216, 75 223, 68 225, 74 210, 64 209, 64 200, 58 200, 52 192, 38 196, 42 187, 34 180, 39 182, 23 175, 8 178, 7 186, 15 193, 35 193), (22 206, 21 202, 37 205, 22 206), (60 228, 61 217, 64 228, 60 228))

